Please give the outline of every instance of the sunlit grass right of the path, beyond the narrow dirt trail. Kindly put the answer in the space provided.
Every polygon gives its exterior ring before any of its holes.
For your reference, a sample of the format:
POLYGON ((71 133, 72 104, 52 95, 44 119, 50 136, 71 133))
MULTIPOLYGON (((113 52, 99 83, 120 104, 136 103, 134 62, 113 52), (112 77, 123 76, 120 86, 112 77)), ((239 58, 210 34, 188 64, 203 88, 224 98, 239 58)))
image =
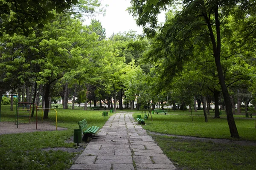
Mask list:
MULTIPOLYGON (((208 116, 208 122, 204 122, 204 116, 197 113, 193 115, 193 121, 189 112, 175 111, 168 115, 152 114, 152 119, 145 121, 144 129, 152 132, 164 134, 195 136, 216 139, 233 139, 230 137, 230 131, 226 118, 215 119, 213 116, 208 116)), ((137 113, 134 113, 134 118, 137 118, 137 113)), ((256 129, 254 119, 235 119, 236 126, 241 140, 256 141, 256 129)))

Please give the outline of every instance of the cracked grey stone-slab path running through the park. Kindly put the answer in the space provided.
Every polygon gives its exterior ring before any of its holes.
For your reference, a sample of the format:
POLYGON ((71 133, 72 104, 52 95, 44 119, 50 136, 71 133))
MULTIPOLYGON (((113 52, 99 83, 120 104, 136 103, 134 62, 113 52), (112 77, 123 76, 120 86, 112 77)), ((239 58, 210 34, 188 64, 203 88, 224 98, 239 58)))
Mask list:
POLYGON ((176 170, 131 113, 111 116, 70 170, 176 170))

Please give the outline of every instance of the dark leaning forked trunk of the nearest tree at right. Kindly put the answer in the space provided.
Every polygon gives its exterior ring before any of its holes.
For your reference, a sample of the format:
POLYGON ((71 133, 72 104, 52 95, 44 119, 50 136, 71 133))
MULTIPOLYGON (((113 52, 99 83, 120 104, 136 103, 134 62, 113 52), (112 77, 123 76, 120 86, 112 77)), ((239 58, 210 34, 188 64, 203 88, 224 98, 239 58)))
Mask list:
POLYGON ((209 20, 207 14, 205 14, 204 12, 202 13, 207 26, 209 28, 209 35, 211 37, 211 41, 212 41, 212 49, 213 49, 213 56, 215 59, 215 65, 218 71, 218 78, 219 78, 219 82, 221 85, 221 90, 222 90, 222 94, 223 94, 223 98, 226 104, 226 113, 227 113, 227 123, 229 126, 229 130, 230 130, 230 136, 234 137, 234 138, 239 138, 239 134, 238 134, 238 130, 236 128, 236 123, 234 120, 234 116, 232 113, 232 105, 230 102, 230 95, 227 91, 227 86, 225 83, 225 79, 224 79, 224 75, 222 72, 222 68, 221 68, 221 32, 220 32, 220 21, 219 21, 219 14, 218 14, 218 4, 215 5, 214 8, 214 15, 215 15, 215 29, 216 29, 216 34, 213 33, 212 30, 212 23, 209 20), (215 40, 215 35, 217 37, 217 44, 216 44, 216 40, 215 40))

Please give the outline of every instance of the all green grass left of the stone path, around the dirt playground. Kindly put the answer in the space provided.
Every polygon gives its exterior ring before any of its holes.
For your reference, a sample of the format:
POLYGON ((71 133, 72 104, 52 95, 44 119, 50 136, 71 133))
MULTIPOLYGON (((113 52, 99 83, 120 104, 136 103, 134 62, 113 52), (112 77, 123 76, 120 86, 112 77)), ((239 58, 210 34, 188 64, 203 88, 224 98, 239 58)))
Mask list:
MULTIPOLYGON (((1 122, 15 122, 15 111, 9 111, 9 105, 1 107, 1 122)), ((37 131, 33 133, 17 133, 0 135, 0 169, 8 170, 65 170, 72 164, 72 159, 78 153, 65 151, 43 151, 44 148, 74 147, 73 143, 65 142, 73 139, 73 129, 77 122, 87 119, 88 126, 102 127, 108 117, 102 116, 102 111, 84 111, 56 108, 58 126, 68 130, 37 131)), ((108 113, 109 116, 112 113, 108 113)), ((55 125, 55 111, 50 111, 49 119, 44 120, 55 125)), ((35 117, 31 119, 35 121, 35 117)), ((41 111, 38 112, 41 121, 41 111)), ((1 127, 0 127, 1 128, 1 127)))

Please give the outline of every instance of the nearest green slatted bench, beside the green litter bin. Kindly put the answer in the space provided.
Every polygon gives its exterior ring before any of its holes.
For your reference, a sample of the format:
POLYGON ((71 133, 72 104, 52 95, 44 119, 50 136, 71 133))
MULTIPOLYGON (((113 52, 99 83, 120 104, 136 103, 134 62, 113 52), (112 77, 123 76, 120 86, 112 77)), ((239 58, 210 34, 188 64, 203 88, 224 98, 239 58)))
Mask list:
POLYGON ((82 141, 87 141, 89 136, 92 136, 99 130, 99 127, 97 126, 87 127, 88 124, 86 119, 78 122, 78 125, 79 125, 79 129, 81 129, 82 133, 84 133, 82 141))

